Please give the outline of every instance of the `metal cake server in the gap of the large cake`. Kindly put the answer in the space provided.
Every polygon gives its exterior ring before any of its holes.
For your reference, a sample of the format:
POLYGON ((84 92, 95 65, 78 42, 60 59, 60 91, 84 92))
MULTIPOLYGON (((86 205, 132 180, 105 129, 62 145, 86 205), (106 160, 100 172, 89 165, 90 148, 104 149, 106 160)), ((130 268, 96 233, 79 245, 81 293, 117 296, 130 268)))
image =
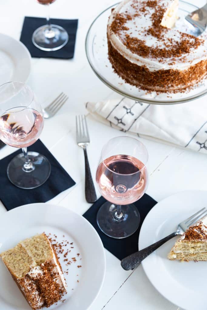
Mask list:
POLYGON ((186 20, 194 27, 199 29, 197 36, 204 32, 207 26, 207 3, 204 7, 201 7, 200 9, 188 14, 186 16, 186 20))

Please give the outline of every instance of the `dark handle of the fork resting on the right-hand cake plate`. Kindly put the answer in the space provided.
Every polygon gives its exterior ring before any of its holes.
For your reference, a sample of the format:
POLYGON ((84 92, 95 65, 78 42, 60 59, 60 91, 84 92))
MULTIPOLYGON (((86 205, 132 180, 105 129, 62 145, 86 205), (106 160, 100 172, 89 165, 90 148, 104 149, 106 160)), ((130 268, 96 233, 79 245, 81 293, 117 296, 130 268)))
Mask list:
POLYGON ((125 257, 121 261, 121 267, 124 270, 131 270, 133 268, 138 267, 143 259, 145 259, 148 255, 150 255, 152 252, 154 252, 156 249, 162 246, 165 242, 167 242, 168 240, 172 239, 177 235, 178 232, 173 232, 169 236, 161 239, 160 241, 151 244, 151 246, 147 246, 145 249, 125 257))

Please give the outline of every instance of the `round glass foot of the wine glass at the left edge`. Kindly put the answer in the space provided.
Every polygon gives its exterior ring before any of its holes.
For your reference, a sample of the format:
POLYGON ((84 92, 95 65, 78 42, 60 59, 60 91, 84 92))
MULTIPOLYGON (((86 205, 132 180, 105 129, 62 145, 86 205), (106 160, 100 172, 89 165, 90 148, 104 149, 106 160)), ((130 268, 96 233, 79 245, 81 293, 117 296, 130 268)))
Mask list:
POLYGON ((34 165, 34 170, 25 172, 22 167, 25 163, 24 154, 15 156, 7 167, 7 175, 15 186, 32 189, 47 181, 51 172, 51 165, 47 158, 36 152, 28 152, 29 160, 34 165))

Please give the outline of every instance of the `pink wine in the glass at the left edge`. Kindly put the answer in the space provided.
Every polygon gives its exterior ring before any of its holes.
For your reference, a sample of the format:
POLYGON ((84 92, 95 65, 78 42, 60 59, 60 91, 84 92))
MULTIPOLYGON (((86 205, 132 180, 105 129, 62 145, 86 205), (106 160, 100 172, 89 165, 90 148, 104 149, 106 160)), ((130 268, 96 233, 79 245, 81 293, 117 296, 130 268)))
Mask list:
POLYGON ((38 111, 14 108, 0 117, 0 138, 8 145, 24 148, 38 139, 43 125, 43 117, 38 111))

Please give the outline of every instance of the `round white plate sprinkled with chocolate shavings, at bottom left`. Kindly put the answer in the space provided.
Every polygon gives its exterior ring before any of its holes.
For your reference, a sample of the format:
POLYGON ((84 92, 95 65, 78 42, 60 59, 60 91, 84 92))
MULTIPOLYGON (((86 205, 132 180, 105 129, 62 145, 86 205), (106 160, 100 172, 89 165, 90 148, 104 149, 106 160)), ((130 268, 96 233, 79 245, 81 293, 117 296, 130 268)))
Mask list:
MULTIPOLYGON (((0 252, 42 232, 51 233, 52 237, 56 235, 58 242, 69 241, 65 249, 71 250, 67 258, 72 263, 68 266, 59 254, 63 271, 68 269, 69 272, 68 275, 64 273, 68 291, 63 298, 65 302, 58 302, 50 309, 88 309, 101 290, 106 270, 105 251, 96 230, 83 216, 66 208, 44 203, 25 205, 1 217, 0 252), (78 268, 80 265, 82 267, 78 268)), ((1 259, 0 287, 0 309, 31 309, 1 259)))

